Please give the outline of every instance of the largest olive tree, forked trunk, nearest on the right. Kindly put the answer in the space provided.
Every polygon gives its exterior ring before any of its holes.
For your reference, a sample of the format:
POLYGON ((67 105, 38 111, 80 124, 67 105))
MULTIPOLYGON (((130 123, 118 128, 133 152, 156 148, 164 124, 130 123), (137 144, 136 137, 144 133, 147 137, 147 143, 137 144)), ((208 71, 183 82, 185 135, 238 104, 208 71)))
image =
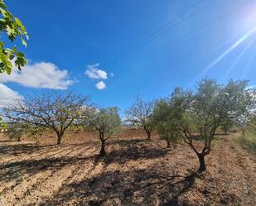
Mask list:
POLYGON ((214 79, 203 79, 196 93, 181 88, 172 93, 169 105, 176 116, 176 131, 196 152, 199 172, 206 170, 205 156, 210 154, 217 129, 227 120, 249 117, 256 108, 255 93, 246 89, 247 84, 247 81, 230 80, 223 86, 214 79), (200 138, 203 146, 195 145, 195 137, 200 138))

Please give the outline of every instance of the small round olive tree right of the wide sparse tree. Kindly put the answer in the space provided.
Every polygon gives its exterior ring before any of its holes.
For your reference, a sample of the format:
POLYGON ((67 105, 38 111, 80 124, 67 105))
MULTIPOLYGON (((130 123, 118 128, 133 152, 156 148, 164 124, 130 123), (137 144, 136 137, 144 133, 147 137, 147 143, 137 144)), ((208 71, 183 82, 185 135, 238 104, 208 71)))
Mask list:
POLYGON ((105 156, 105 142, 118 131, 121 125, 118 108, 87 108, 86 110, 84 125, 99 132, 101 141, 99 156, 105 156))

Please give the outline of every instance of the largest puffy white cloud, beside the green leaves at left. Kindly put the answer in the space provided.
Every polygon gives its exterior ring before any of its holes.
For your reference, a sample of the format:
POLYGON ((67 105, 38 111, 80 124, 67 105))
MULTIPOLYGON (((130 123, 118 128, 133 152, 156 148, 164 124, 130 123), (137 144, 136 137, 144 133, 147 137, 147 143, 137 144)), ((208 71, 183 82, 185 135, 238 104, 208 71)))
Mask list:
POLYGON ((74 82, 69 79, 68 71, 59 69, 50 62, 28 64, 19 71, 12 69, 12 74, 1 74, 0 83, 14 82, 31 88, 67 89, 74 82))

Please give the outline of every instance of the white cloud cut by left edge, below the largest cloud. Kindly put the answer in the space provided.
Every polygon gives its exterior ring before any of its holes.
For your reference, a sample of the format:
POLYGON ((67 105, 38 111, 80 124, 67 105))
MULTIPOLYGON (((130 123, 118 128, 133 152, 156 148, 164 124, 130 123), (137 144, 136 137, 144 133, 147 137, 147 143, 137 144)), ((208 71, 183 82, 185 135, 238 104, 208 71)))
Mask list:
POLYGON ((0 83, 0 108, 8 107, 22 98, 19 93, 0 83))

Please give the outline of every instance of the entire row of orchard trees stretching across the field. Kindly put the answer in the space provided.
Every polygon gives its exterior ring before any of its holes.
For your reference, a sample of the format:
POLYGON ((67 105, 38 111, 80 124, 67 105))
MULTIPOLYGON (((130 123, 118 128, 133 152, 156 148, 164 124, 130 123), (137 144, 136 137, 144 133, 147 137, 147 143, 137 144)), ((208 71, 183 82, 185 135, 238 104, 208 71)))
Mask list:
MULTIPOLYGON (((147 138, 157 131, 167 147, 180 140, 186 142, 198 156, 201 172, 206 169, 205 156, 210 154, 218 129, 229 127, 230 122, 247 122, 255 112, 256 92, 246 89, 247 84, 230 80, 224 86, 214 79, 203 79, 196 91, 176 88, 171 97, 152 102, 138 97, 126 111, 125 121, 142 127, 147 138), (194 143, 198 139, 200 146, 194 143)), ((45 128, 56 132, 57 144, 70 127, 93 128, 99 133, 100 156, 106 154, 105 142, 121 126, 118 108, 97 108, 88 97, 73 93, 18 100, 4 109, 4 116, 10 136, 45 128)))

